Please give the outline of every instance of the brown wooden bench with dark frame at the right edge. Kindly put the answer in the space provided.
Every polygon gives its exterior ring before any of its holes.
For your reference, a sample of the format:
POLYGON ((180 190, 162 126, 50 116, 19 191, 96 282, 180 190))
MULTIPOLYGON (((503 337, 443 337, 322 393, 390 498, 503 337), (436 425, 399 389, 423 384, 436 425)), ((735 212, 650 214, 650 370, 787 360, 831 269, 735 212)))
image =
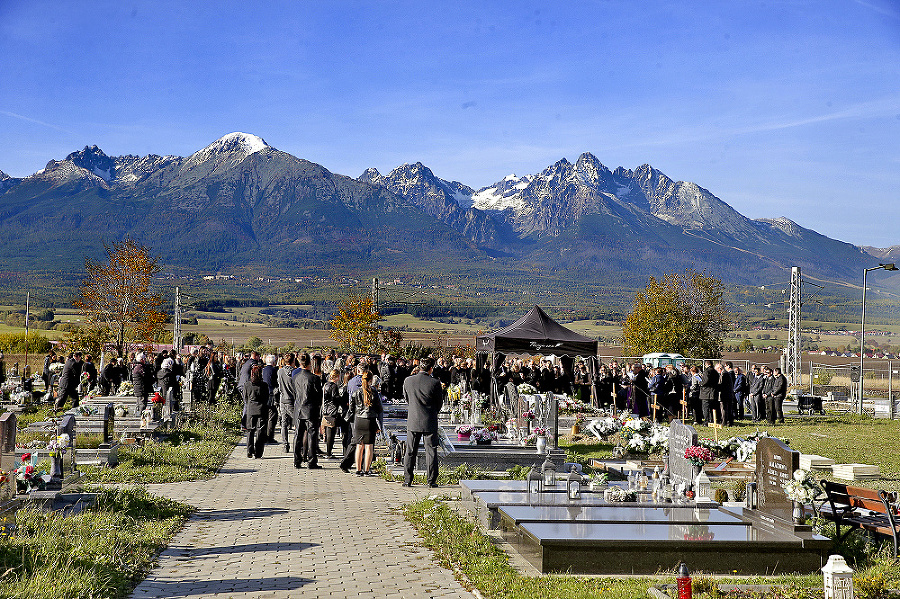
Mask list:
POLYGON ((894 542, 897 557, 900 515, 894 507, 895 496, 885 491, 851 487, 828 480, 821 481, 826 499, 821 516, 835 523, 835 541, 840 541, 856 529, 889 537, 894 542), (841 526, 847 531, 842 535, 841 526))

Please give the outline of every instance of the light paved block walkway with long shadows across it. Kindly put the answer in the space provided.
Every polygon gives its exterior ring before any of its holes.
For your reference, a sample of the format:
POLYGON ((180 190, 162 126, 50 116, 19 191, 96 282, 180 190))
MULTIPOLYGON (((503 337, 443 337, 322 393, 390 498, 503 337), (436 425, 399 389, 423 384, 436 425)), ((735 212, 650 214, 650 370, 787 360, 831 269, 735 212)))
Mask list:
POLYGON ((246 455, 242 443, 212 480, 148 486, 199 509, 132 597, 471 599, 395 510, 429 489, 337 460, 296 470, 279 445, 246 455))

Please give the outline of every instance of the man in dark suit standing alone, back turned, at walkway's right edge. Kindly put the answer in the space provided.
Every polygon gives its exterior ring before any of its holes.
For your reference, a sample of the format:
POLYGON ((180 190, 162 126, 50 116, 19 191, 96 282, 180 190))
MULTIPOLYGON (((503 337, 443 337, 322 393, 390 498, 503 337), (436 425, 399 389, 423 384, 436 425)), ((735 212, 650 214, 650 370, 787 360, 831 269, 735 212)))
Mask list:
POLYGON ((409 404, 406 420, 406 462, 403 486, 412 485, 413 468, 419 453, 419 441, 425 446, 426 482, 429 487, 437 486, 438 474, 438 412, 444 404, 441 383, 431 376, 434 358, 422 358, 421 371, 403 382, 403 398, 409 404))

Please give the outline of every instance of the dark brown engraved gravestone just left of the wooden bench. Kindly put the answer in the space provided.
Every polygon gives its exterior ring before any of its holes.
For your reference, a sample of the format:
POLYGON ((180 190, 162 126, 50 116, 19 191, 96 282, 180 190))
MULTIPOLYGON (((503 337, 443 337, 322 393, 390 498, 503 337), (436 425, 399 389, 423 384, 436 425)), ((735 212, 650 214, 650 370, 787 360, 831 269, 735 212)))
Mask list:
POLYGON ((778 439, 763 437, 756 444, 757 509, 767 515, 790 522, 793 504, 784 491, 800 467, 800 452, 778 439))

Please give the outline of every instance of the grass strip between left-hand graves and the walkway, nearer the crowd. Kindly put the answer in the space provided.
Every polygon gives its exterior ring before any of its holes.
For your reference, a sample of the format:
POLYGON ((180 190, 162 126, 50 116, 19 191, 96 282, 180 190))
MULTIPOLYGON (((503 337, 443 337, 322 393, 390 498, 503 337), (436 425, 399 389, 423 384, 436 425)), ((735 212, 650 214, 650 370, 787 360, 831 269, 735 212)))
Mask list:
POLYGON ((153 484, 209 479, 241 439, 241 408, 216 404, 159 440, 122 445, 115 468, 83 466, 88 483, 153 484))

